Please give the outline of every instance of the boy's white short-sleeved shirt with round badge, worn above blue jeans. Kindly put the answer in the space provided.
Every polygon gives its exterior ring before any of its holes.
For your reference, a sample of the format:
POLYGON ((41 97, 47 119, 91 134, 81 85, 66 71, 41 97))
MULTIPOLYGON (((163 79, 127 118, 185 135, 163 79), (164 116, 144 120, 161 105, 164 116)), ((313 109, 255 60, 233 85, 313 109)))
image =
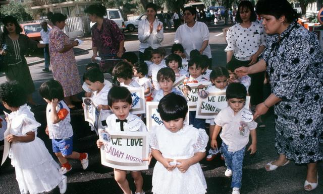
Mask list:
POLYGON ((257 123, 251 121, 247 123, 243 135, 240 134, 239 127, 242 122, 243 111, 248 109, 242 108, 236 115, 231 107, 222 109, 220 113, 214 119, 214 122, 222 127, 222 132, 220 134, 221 139, 225 144, 228 145, 229 152, 235 152, 241 150, 249 142, 249 130, 254 130, 257 127, 257 123))

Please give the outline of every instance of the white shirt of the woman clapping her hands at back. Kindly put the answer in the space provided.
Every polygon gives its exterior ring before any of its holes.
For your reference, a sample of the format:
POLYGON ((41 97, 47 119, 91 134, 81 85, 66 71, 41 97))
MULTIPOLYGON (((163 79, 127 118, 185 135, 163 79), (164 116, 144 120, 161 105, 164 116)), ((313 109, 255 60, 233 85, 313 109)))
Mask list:
POLYGON ((150 24, 147 19, 142 20, 138 24, 138 39, 140 41, 139 51, 144 52, 146 48, 151 47, 156 49, 160 47, 160 43, 164 40, 164 30, 161 28, 159 32, 157 32, 157 26, 163 25, 160 21, 155 19, 153 22, 153 30, 150 33, 150 24))

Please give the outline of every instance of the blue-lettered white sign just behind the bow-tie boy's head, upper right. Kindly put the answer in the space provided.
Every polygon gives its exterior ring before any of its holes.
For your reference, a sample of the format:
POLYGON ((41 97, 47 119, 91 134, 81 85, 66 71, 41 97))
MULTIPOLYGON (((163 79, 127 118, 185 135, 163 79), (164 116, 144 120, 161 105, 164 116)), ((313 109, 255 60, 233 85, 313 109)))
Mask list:
POLYGON ((146 100, 145 100, 145 90, 143 87, 128 87, 131 98, 132 106, 130 112, 134 115, 145 114, 146 113, 146 100))

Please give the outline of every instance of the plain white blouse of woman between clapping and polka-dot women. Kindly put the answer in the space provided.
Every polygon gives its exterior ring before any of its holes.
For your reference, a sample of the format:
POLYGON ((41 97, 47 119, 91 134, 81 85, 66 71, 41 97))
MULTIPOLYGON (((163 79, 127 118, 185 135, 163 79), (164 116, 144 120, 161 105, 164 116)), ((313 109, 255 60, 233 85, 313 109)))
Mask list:
MULTIPOLYGON (((209 36, 208 28, 203 22, 196 22, 192 28, 188 27, 187 24, 183 24, 176 30, 174 42, 182 44, 187 59, 190 59, 190 52, 194 49, 200 50, 203 41, 209 40, 209 36)), ((207 45, 203 55, 212 58, 210 45, 207 45)))

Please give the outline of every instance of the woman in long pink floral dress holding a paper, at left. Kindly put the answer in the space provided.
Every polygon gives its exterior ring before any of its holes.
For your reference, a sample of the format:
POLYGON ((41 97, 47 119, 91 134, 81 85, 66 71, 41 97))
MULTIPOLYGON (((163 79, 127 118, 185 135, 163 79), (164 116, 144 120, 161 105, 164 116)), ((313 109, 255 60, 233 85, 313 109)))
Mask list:
POLYGON ((53 28, 49 33, 49 53, 53 78, 59 81, 64 89, 64 100, 68 107, 75 108, 73 102, 79 102, 76 94, 82 91, 81 79, 73 52, 78 41, 70 41, 63 32, 65 20, 63 14, 53 14, 50 17, 53 28))

